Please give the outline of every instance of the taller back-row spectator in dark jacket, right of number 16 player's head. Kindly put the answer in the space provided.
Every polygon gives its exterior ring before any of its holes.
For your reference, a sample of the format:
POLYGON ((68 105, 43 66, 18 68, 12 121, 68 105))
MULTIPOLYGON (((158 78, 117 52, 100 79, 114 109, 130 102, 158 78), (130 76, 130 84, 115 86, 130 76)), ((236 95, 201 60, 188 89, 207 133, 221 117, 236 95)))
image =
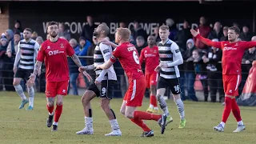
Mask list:
POLYGON ((175 42, 178 44, 182 54, 184 54, 184 52, 186 51, 187 40, 190 38, 192 38, 192 35, 190 34, 190 24, 188 21, 184 20, 183 29, 178 30, 178 33, 175 37, 175 42))

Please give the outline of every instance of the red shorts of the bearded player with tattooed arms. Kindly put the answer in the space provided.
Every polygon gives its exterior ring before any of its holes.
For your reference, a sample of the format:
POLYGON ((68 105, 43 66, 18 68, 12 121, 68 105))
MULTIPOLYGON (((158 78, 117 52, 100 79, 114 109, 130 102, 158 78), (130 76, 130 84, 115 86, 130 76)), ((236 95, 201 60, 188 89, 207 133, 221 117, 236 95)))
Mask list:
POLYGON ((66 95, 69 81, 62 82, 46 82, 46 97, 56 97, 59 95, 66 95))

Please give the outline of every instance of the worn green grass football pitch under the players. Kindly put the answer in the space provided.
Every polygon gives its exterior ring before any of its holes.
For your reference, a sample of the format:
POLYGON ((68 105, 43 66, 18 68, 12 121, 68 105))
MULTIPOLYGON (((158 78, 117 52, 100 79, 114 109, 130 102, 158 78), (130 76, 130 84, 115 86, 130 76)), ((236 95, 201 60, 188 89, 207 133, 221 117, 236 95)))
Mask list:
MULTIPOLYGON (((27 95, 27 94, 26 94, 27 95)), ((105 137, 110 133, 110 123, 102 111, 98 98, 92 102, 94 118, 94 135, 77 135, 76 131, 84 128, 84 115, 80 96, 69 95, 64 98, 63 112, 58 131, 51 132, 46 127, 45 94, 36 94, 34 98, 34 110, 26 111, 26 105, 18 110, 21 98, 14 92, 0 92, 0 143, 1 144, 35 144, 35 143, 190 143, 190 144, 235 144, 255 143, 256 141, 256 114, 254 107, 241 107, 243 122, 246 130, 241 133, 232 133, 237 126, 233 114, 226 123, 225 132, 219 133, 213 130, 222 118, 223 106, 220 103, 210 102, 185 102, 186 128, 178 129, 179 115, 173 101, 167 101, 170 114, 174 122, 166 127, 165 134, 160 134, 160 127, 154 121, 146 121, 146 124, 154 130, 154 137, 141 138, 140 127, 135 126, 129 119, 120 114, 119 108, 122 99, 113 99, 111 107, 116 113, 122 137, 105 137)), ((143 106, 139 110, 146 110, 149 99, 145 98, 143 106)))

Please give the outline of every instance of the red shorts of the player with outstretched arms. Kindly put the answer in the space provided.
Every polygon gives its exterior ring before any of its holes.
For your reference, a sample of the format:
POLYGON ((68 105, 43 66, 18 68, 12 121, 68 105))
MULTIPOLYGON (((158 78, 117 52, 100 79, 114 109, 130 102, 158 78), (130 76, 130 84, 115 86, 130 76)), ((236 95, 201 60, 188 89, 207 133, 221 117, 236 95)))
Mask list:
POLYGON ((222 79, 225 94, 238 96, 238 86, 241 82, 241 75, 223 75, 222 79))

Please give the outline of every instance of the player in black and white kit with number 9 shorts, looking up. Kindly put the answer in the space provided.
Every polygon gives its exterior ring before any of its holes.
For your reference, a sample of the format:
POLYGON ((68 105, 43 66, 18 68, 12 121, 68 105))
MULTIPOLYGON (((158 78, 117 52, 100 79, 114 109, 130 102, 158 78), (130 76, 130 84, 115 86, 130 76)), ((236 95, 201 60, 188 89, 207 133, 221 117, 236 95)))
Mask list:
MULTIPOLYGON (((106 26, 106 23, 98 25, 94 30, 94 36, 96 38, 106 38, 110 29, 106 26)), ((94 70, 98 65, 107 62, 112 55, 112 47, 107 46, 101 42, 98 42, 94 50, 94 64, 90 66, 83 66, 83 70, 94 70)), ((82 106, 85 114, 86 127, 83 130, 78 131, 76 134, 94 134, 93 129, 93 117, 90 106, 90 100, 96 96, 101 98, 102 110, 106 113, 106 116, 110 120, 112 132, 105 134, 105 136, 121 136, 122 132, 118 125, 118 120, 115 117, 114 111, 110 108, 110 100, 112 99, 114 84, 117 82, 117 75, 114 71, 114 66, 111 66, 107 70, 95 70, 96 80, 98 83, 91 83, 87 88, 85 94, 82 96, 82 106), (101 75, 99 77, 99 75, 101 75)))

